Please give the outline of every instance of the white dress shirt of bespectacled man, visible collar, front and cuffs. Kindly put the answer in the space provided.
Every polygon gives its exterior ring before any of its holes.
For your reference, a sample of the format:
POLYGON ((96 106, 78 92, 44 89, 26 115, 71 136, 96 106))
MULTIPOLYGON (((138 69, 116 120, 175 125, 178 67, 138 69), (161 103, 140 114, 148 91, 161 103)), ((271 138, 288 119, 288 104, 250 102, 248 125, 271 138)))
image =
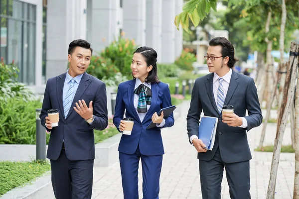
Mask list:
MULTIPOLYGON (((226 94, 227 94, 227 91, 228 91, 228 87, 229 87, 229 83, 230 83, 230 79, 232 77, 232 69, 229 70, 229 72, 227 74, 225 74, 222 78, 223 78, 223 82, 222 82, 222 86, 223 86, 223 89, 224 89, 224 99, 226 98, 226 94)), ((214 99, 215 99, 215 102, 217 104, 217 94, 218 94, 218 87, 219 87, 219 79, 220 77, 214 73, 214 77, 213 77, 213 94, 214 94, 214 99)), ((242 118, 242 125, 239 126, 241 128, 246 128, 247 127, 247 120, 245 119, 245 117, 241 117, 242 118)), ((192 135, 190 137, 190 142, 192 143, 193 139, 194 138, 197 138, 198 139, 198 136, 197 135, 192 135)))

